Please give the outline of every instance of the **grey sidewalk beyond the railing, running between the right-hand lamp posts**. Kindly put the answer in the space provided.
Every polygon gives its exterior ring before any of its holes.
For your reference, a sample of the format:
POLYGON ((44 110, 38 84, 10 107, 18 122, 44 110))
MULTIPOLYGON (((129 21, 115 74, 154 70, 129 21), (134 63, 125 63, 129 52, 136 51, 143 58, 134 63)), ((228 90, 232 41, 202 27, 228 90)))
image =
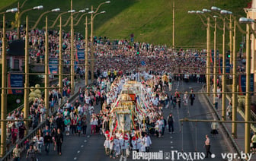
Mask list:
MULTIPOLYGON (((205 96, 206 96, 206 99, 210 101, 211 105, 214 108, 213 94, 210 94, 209 96, 208 95, 205 95, 205 96)), ((229 105, 229 99, 226 99, 226 106, 228 105, 229 105)), ((218 109, 216 111, 219 115, 219 118, 222 118, 222 99, 218 99, 218 109)), ((226 120, 232 121, 228 116, 226 116, 226 120)), ((245 121, 239 112, 237 112, 237 121, 245 121)), ((229 134, 232 134, 232 123, 224 123, 223 125, 226 126, 226 129, 229 131, 229 134)), ((233 140, 235 140, 235 144, 237 144, 238 151, 242 152, 242 151, 245 151, 245 124, 237 123, 236 125, 237 125, 237 138, 233 138, 233 140)), ((256 160, 256 155, 252 155, 251 160, 256 160)))

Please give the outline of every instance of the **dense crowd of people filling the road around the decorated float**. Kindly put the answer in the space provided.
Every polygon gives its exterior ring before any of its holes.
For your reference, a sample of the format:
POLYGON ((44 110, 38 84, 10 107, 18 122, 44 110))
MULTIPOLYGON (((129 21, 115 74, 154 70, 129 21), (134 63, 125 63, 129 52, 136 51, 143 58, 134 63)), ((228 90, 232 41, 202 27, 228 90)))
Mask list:
MULTIPOLYGON (((25 39, 24 31, 21 32, 21 39, 25 39)), ((30 60, 40 63, 44 62, 44 31, 31 30, 29 33, 30 60)), ((59 32, 50 31, 49 52, 50 58, 59 58, 59 46, 62 46, 64 68, 69 70, 70 60, 70 34, 62 34, 62 44, 59 44, 59 32)), ((8 43, 17 39, 16 33, 6 33, 8 43)), ((85 48, 85 39, 77 34, 75 46, 85 48)), ((2 44, 2 43, 1 43, 2 44)), ((91 51, 89 50, 89 56, 91 51)), ((194 49, 169 49, 167 46, 154 46, 149 43, 130 43, 128 40, 115 40, 94 38, 94 55, 96 57, 95 70, 89 71, 94 74, 97 80, 93 87, 86 87, 79 90, 79 98, 75 103, 69 103, 70 82, 64 78, 62 93, 53 87, 50 90, 50 110, 57 108, 57 116, 46 116, 46 109, 42 98, 34 99, 30 106, 30 126, 37 128, 40 122, 46 121, 46 128, 39 131, 34 137, 34 146, 41 151, 43 145, 46 153, 49 153, 50 144, 54 149, 57 146, 57 153, 61 155, 62 135, 85 136, 90 125, 90 134, 104 134, 106 137, 104 147, 106 154, 111 157, 126 156, 129 149, 138 151, 149 151, 151 143, 149 136, 162 137, 165 128, 168 132, 174 132, 174 117, 170 113, 168 118, 163 117, 162 109, 167 106, 180 108, 193 106, 195 95, 193 90, 181 96, 178 91, 168 95, 167 90, 172 90, 172 84, 185 81, 205 82, 206 53, 194 49), (142 63, 143 62, 143 63, 142 63), (139 71, 141 70, 141 71, 139 71), (122 90, 122 85, 127 80, 139 80, 145 89, 145 101, 149 105, 148 117, 145 124, 139 130, 139 122, 135 122, 133 131, 130 134, 123 134, 122 131, 110 132, 110 109, 122 90), (60 107, 62 101, 66 104, 60 107), (182 102, 182 100, 184 100, 182 102), (95 113, 96 106, 101 106, 101 111, 95 113), (120 144, 125 143, 122 147, 120 144), (118 145, 120 144, 120 145, 118 145)), ((76 71, 81 77, 85 75, 85 65, 77 65, 76 71)), ((22 119, 24 112, 21 109, 15 110, 8 115, 9 119, 22 119)), ((11 144, 24 138, 24 122, 9 122, 8 136, 11 144)), ((30 140, 27 140, 30 143, 30 140)), ((29 145, 29 144, 28 144, 29 145)), ((29 149, 29 146, 27 146, 29 149)), ((33 150, 32 150, 33 151, 33 150)), ((33 156, 28 153, 28 156, 33 156)))

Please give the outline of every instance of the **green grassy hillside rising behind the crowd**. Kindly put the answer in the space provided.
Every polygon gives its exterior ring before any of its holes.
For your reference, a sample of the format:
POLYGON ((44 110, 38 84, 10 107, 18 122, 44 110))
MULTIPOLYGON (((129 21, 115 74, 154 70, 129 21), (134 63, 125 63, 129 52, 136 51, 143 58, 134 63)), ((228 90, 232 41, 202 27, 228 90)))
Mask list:
MULTIPOLYGON (((205 46, 206 27, 203 26, 200 18, 196 14, 187 14, 190 10, 210 9, 211 6, 217 6, 222 9, 232 11, 235 15, 245 16, 245 8, 251 0, 175 0, 175 46, 205 46)), ((24 0, 20 1, 20 3, 24 0)), ((103 0, 73 0, 73 8, 81 10, 90 8, 91 5, 96 8, 103 0)), ((5 6, 14 8, 18 1, 2 0, 0 9, 5 11, 5 6)), ((44 11, 53 8, 61 8, 61 11, 70 9, 70 0, 27 0, 24 8, 32 8, 36 5, 43 5, 43 11, 30 11, 30 26, 34 25, 37 18, 44 11)), ((172 44, 172 5, 173 0, 112 0, 110 4, 104 4, 99 11, 106 11, 106 14, 99 14, 94 19, 94 35, 107 36, 110 39, 130 39, 130 33, 134 33, 135 41, 148 42, 154 44, 172 44)), ((50 24, 56 19, 59 13, 50 13, 48 17, 50 24)), ((66 14, 64 22, 68 19, 66 14)), ((79 17, 79 16, 78 16, 79 17)), ((24 24, 22 17, 21 23, 24 24)), ((13 21, 14 15, 8 14, 8 20, 13 21)), ((84 21, 85 22, 85 21, 84 21)), ((40 27, 43 27, 44 20, 40 27)), ((218 21, 222 27, 222 21, 218 21)), ((58 28, 56 28, 58 29, 58 28)), ((64 30, 69 31, 69 26, 64 30)), ((76 32, 85 33, 85 25, 80 24, 75 27, 76 32)), ((213 33, 213 29, 212 29, 213 33)), ((221 49, 222 31, 218 30, 218 45, 221 49)), ((226 39, 229 39, 226 32, 226 39)), ((213 34, 212 34, 213 39, 213 34)), ((242 33, 237 33, 238 41, 242 39, 242 33)), ((212 40, 213 41, 213 40, 212 40)), ((227 44, 229 40, 226 40, 227 44)))

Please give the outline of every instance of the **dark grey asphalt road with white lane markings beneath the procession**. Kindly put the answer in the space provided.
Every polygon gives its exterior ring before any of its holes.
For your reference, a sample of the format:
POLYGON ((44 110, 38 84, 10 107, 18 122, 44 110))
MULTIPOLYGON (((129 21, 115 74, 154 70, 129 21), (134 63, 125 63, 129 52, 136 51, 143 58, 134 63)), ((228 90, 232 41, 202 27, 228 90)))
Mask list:
MULTIPOLYGON (((193 87, 194 91, 199 91, 202 88, 202 84, 196 83, 184 83, 179 86, 174 85, 171 93, 174 93, 175 89, 180 92, 190 91, 189 88, 193 87)), ((181 97, 182 98, 182 97, 181 97)), ((96 107, 98 110, 99 107, 96 107)), ((203 147, 205 135, 210 134, 210 123, 192 123, 184 122, 183 125, 178 122, 180 118, 190 117, 194 119, 213 119, 212 112, 204 102, 202 95, 197 95, 194 106, 189 106, 185 109, 181 106, 181 109, 164 109, 165 118, 169 112, 174 114, 174 134, 168 134, 165 130, 165 136, 161 138, 152 138, 152 147, 150 151, 157 152, 163 150, 163 152, 171 152, 172 150, 178 150, 178 152, 198 152, 204 153, 206 150, 203 147)), ((90 127, 88 127, 88 134, 90 127)), ((217 137, 210 137, 211 139, 211 151, 215 154, 214 159, 210 160, 223 160, 221 153, 228 152, 228 148, 222 138, 222 135, 217 137)), ((50 153, 46 156, 46 153, 38 155, 39 160, 58 161, 58 160, 114 160, 104 155, 104 137, 101 134, 90 136, 69 136, 64 138, 62 144, 62 156, 58 156, 56 151, 53 151, 53 147, 50 147, 50 153)), ((177 160, 178 156, 174 155, 174 159, 177 160)), ((182 157, 181 160, 184 160, 182 157)), ((22 158, 21 160, 25 160, 22 158)), ((117 159, 116 159, 117 160, 117 159)), ((121 160, 118 158, 118 160, 121 160)), ((124 159, 123 159, 124 160, 124 159)), ((131 156, 126 160, 132 160, 131 156)))

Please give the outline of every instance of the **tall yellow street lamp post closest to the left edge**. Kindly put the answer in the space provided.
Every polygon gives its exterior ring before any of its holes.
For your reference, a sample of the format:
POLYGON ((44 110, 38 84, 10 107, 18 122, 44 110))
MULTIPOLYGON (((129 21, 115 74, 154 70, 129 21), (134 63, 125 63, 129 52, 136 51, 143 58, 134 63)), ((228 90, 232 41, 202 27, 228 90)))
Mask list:
MULTIPOLYGON (((7 115, 7 67, 6 67, 6 46, 7 40, 5 36, 5 13, 16 12, 18 9, 12 8, 0 14, 3 14, 3 28, 2 28, 2 93, 1 93, 1 118, 5 119, 7 115)), ((6 150, 6 122, 1 122, 1 144, 0 144, 0 156, 5 155, 6 150)))

